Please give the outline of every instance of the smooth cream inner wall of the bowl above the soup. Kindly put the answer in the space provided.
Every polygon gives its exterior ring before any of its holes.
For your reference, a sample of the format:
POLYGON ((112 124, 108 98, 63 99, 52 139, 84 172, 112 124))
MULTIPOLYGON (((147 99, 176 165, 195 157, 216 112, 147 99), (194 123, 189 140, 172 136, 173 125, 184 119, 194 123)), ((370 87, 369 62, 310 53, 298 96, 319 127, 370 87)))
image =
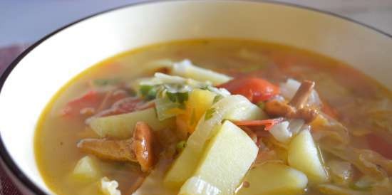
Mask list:
POLYGON ((43 107, 62 85, 117 53, 190 38, 246 38, 304 48, 349 63, 392 90, 391 36, 340 16, 257 1, 124 6, 51 33, 1 77, 0 156, 19 188, 26 194, 54 194, 38 173, 33 133, 43 107))

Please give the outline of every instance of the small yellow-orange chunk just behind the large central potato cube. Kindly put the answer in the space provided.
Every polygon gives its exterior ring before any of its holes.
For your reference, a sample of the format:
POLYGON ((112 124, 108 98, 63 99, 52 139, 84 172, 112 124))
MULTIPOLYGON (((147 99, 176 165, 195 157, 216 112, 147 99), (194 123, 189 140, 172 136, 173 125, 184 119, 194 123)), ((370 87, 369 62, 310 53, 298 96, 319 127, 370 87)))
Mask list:
POLYGON ((212 93, 208 90, 192 90, 192 93, 190 93, 185 104, 185 112, 177 116, 177 120, 182 120, 182 122, 184 122, 182 123, 184 125, 180 126, 185 128, 185 130, 182 131, 190 133, 195 131, 197 122, 199 122, 205 111, 207 111, 212 106, 215 95, 215 93, 212 93))

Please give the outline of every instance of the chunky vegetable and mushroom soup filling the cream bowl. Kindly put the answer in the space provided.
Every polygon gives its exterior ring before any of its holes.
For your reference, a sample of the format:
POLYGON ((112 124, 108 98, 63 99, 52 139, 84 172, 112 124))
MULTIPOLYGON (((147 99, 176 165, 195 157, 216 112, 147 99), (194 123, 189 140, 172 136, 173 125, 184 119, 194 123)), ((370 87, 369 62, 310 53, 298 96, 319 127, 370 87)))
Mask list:
POLYGON ((48 103, 36 161, 56 194, 392 194, 391 93, 349 65, 241 40, 163 43, 48 103))

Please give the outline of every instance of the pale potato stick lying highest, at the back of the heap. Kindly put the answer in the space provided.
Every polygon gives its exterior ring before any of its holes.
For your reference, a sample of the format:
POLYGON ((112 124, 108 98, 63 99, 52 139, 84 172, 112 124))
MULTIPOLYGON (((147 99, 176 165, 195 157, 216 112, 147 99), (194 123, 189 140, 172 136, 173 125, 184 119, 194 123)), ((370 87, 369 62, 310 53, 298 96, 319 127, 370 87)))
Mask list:
POLYGON ((213 85, 220 85, 232 79, 227 75, 192 65, 190 60, 182 60, 181 62, 174 63, 172 74, 200 81, 210 81, 213 85))

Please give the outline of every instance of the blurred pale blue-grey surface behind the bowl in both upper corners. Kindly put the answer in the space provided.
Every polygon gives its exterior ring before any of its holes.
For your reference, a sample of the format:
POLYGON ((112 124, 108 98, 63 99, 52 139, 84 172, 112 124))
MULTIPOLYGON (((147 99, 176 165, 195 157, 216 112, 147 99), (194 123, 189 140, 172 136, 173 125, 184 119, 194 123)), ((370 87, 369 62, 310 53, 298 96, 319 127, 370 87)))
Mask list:
MULTIPOLYGON (((140 0, 0 0, 0 47, 33 43, 85 16, 140 0)), ((392 34, 392 0, 278 0, 331 11, 392 34)))

